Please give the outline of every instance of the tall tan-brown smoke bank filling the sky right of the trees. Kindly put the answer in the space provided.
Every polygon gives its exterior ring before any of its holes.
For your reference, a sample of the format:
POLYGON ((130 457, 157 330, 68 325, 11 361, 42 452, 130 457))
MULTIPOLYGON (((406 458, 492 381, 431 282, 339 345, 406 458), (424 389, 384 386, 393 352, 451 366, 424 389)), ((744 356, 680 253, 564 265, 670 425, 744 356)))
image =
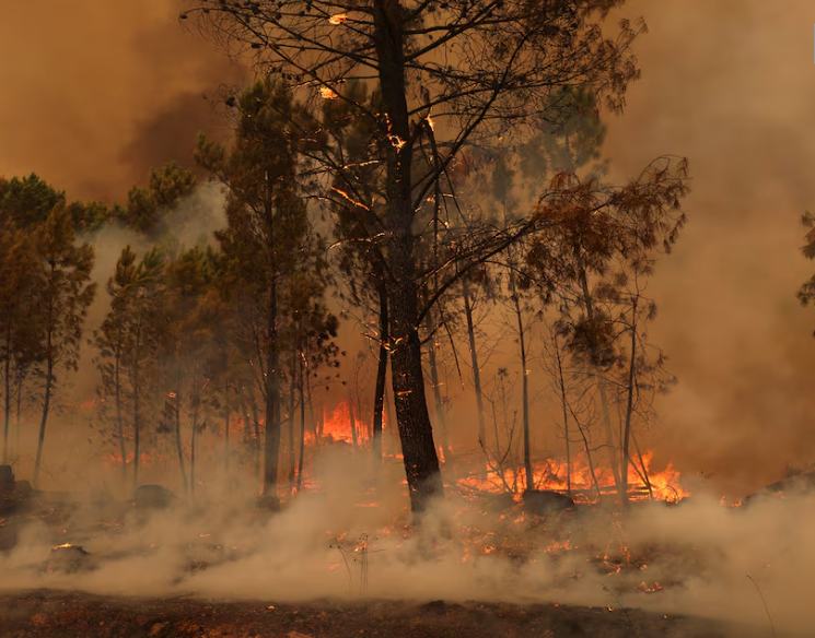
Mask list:
POLYGON ((627 2, 650 33, 641 82, 609 122, 616 180, 662 154, 687 156, 690 223, 661 261, 651 340, 678 388, 653 433, 661 462, 731 493, 812 461, 815 316, 795 291, 812 275, 800 216, 815 202, 815 90, 808 2, 627 2))

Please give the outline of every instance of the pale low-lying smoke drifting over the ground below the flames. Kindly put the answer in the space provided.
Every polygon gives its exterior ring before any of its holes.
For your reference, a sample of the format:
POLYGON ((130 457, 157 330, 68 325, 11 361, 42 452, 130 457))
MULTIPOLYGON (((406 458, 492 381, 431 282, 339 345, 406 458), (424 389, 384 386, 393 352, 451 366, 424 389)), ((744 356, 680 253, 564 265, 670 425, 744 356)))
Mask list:
POLYGON ((624 518, 586 508, 543 519, 517 508, 500 516, 451 497, 414 533, 400 468, 385 465, 379 507, 362 507, 372 498, 373 468, 359 456, 350 461, 342 451, 321 457, 310 476, 316 489, 271 517, 245 507, 240 495, 249 491, 233 484, 232 492, 152 516, 108 501, 81 506, 59 529, 34 519, 16 548, 0 556, 8 576, 0 588, 271 604, 559 602, 709 617, 742 626, 737 636, 764 630, 764 596, 780 633, 811 628, 812 496, 789 493, 741 509, 702 497, 678 507, 643 505, 624 518), (90 552, 85 566, 95 569, 43 574, 51 548, 66 542, 90 552), (627 565, 614 574, 618 556, 627 565), (641 583, 662 589, 644 593, 641 583))

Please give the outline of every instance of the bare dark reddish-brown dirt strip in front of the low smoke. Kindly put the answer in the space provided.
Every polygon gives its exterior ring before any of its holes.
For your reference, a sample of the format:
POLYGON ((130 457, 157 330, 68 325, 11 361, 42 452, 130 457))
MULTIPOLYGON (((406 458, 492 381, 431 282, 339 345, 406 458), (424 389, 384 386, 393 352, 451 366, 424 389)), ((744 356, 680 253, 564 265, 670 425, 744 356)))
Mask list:
POLYGON ((469 602, 230 603, 36 591, 0 595, 2 637, 746 638, 709 621, 606 607, 469 602))

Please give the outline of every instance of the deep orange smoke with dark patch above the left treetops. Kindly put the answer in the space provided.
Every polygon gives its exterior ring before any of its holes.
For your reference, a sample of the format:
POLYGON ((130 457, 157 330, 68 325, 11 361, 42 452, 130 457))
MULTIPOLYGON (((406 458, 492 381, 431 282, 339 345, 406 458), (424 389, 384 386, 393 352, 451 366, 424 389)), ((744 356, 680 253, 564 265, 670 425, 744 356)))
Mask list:
POLYGON ((179 7, 181 0, 4 7, 0 175, 35 172, 71 199, 120 201, 151 167, 191 164, 199 130, 224 132, 203 96, 243 82, 245 69, 184 32, 179 7))

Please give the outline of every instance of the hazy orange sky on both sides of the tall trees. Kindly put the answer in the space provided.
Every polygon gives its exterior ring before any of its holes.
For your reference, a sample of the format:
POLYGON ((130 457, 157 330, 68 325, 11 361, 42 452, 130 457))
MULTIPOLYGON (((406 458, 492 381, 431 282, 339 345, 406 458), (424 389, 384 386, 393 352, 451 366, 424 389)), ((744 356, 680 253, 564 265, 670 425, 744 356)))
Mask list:
MULTIPOLYGON (((73 198, 123 199, 185 158, 217 119, 200 97, 238 78, 176 21, 176 0, 8 2, 0 21, 0 175, 37 172, 73 198), (36 35, 35 35, 36 34, 36 35)), ((652 340, 679 388, 659 450, 735 480, 815 460, 815 271, 799 218, 815 206, 815 4, 629 2, 650 34, 642 80, 609 119, 615 179, 690 160, 690 223, 659 269, 652 340)))

